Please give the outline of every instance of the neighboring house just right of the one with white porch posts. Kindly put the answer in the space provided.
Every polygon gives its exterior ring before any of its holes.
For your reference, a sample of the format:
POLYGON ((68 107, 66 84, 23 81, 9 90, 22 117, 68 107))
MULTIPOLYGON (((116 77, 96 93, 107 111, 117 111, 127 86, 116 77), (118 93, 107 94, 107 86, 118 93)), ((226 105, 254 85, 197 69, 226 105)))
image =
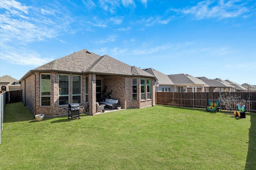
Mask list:
POLYGON ((209 79, 206 77, 197 77, 199 80, 205 82, 208 86, 204 88, 204 92, 235 92, 236 88, 225 80, 219 78, 209 79))

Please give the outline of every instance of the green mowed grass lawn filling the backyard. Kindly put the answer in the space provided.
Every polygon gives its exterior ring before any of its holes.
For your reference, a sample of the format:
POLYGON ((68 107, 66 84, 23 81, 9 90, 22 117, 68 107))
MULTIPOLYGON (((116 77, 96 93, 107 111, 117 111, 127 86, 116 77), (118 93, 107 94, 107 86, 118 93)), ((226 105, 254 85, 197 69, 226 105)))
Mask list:
POLYGON ((154 106, 36 121, 7 104, 0 169, 212 169, 256 167, 256 114, 154 106))

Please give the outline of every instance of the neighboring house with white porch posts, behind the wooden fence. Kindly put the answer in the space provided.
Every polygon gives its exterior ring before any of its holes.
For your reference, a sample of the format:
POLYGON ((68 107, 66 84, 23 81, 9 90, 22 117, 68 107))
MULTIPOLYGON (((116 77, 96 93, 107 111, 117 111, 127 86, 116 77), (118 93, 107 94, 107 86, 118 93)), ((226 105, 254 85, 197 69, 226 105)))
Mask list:
POLYGON ((174 83, 174 92, 204 92, 206 83, 189 74, 168 75, 174 83))

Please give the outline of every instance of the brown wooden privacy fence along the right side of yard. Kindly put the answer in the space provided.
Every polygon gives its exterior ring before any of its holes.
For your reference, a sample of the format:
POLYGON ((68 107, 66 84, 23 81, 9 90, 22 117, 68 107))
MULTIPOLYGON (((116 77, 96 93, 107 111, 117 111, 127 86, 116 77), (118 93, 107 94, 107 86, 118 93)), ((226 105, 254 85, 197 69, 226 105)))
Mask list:
MULTIPOLYGON (((156 92, 156 104, 206 108, 207 99, 216 102, 220 96, 230 99, 235 95, 241 99, 250 100, 250 104, 246 104, 246 112, 256 113, 256 92, 156 92)), ((231 109, 236 109, 236 104, 231 107, 231 109)), ((226 108, 220 105, 220 109, 225 110, 226 108)))

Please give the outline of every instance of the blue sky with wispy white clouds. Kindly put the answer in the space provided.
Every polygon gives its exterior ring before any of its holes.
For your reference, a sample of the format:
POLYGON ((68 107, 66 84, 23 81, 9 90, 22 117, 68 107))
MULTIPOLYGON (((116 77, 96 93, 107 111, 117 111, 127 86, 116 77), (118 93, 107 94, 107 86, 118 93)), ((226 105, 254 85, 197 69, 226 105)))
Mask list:
POLYGON ((0 76, 75 51, 256 85, 255 0, 1 0, 0 76))

